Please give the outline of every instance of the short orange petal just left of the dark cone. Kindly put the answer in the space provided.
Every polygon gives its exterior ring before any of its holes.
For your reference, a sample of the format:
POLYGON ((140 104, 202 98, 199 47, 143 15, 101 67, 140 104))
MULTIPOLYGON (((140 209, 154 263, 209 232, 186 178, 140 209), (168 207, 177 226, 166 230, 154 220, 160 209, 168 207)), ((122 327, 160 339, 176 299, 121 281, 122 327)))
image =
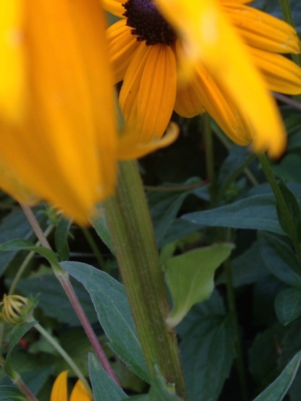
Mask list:
POLYGON ((107 31, 109 57, 114 71, 114 83, 121 81, 134 52, 138 47, 136 36, 132 35, 131 27, 127 27, 126 20, 120 20, 111 25, 107 31))

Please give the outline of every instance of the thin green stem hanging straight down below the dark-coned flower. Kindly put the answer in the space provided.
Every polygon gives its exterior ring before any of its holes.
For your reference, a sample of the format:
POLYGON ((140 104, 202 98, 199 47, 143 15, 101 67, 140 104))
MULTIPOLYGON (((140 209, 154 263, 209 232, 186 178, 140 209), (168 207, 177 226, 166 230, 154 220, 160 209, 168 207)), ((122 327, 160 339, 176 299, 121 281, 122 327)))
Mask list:
POLYGON ((206 154, 206 172, 207 172, 207 178, 210 182, 210 197, 212 202, 212 199, 214 199, 214 194, 215 194, 215 172, 214 172, 213 136, 210 126, 210 115, 208 113, 203 114, 203 121, 204 121, 205 154, 206 154))

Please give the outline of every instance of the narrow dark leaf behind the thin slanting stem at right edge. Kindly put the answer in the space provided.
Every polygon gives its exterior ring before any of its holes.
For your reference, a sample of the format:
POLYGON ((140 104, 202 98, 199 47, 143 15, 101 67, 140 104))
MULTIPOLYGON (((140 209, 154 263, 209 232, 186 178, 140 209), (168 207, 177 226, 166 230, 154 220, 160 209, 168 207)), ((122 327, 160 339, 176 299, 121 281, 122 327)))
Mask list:
MULTIPOLYGON (((299 237, 299 239, 301 239, 301 218, 300 218, 300 208, 299 205, 297 203, 297 199, 295 198, 295 196, 293 195, 293 193, 287 188, 287 186, 285 185, 283 179, 280 180, 279 182, 279 188, 281 190, 281 193, 283 195, 284 198, 284 202, 286 204, 287 210, 288 210, 288 214, 289 217, 295 227, 296 233, 299 237)), ((287 222, 283 217, 283 213, 282 211, 279 209, 278 204, 277 206, 277 215, 278 215, 278 220, 280 223, 280 226, 282 228, 282 230, 288 235, 288 237, 290 236, 290 230, 289 227, 287 226, 287 222)))

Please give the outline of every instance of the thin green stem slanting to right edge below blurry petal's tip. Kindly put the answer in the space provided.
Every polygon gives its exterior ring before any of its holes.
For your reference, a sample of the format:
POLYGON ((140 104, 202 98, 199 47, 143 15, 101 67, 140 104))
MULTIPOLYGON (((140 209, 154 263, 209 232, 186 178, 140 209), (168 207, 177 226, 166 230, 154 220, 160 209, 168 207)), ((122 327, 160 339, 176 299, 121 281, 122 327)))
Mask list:
POLYGON ((298 260, 299 260, 299 266, 301 268, 301 247, 300 247, 300 243, 298 240, 298 235, 294 226, 294 223, 291 219, 291 216, 289 214, 289 211, 287 209, 287 205, 285 203, 284 197, 282 195, 282 192, 279 188, 279 185, 276 181, 276 178, 273 174, 273 171, 271 169, 270 163, 268 158, 266 157, 266 155, 264 153, 258 153, 257 157, 260 161, 260 164, 263 168, 263 171, 265 173, 265 176, 274 192, 275 198, 276 198, 276 202, 279 208, 279 212, 281 213, 281 215, 283 216, 283 218, 286 221, 286 226, 287 226, 287 230, 288 230, 288 237, 291 239, 292 244, 294 246, 295 252, 297 254, 298 260))

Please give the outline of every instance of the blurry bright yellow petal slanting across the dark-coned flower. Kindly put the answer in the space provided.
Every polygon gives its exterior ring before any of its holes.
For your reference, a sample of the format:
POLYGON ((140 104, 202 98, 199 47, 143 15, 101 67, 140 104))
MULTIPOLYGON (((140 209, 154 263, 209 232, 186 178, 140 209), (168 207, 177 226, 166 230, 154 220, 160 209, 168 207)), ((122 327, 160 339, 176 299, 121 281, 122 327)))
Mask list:
POLYGON ((255 151, 279 156, 286 140, 276 104, 253 66, 246 46, 235 34, 215 0, 156 0, 178 29, 190 63, 202 62, 233 99, 252 127, 255 151), (263 113, 264 110, 264 113, 263 113))

